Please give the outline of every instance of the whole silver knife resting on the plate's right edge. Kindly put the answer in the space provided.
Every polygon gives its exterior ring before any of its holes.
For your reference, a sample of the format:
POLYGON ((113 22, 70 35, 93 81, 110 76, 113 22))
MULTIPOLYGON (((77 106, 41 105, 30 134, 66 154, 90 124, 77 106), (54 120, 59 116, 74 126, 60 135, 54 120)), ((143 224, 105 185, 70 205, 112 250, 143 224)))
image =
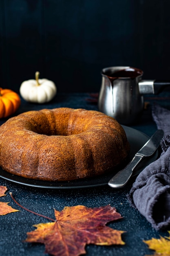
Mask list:
POLYGON ((132 161, 121 171, 119 171, 108 185, 118 189, 124 187, 132 176, 133 171, 144 157, 149 157, 155 153, 160 145, 160 140, 163 137, 163 130, 157 130, 152 137, 144 144, 144 146, 135 154, 132 161))

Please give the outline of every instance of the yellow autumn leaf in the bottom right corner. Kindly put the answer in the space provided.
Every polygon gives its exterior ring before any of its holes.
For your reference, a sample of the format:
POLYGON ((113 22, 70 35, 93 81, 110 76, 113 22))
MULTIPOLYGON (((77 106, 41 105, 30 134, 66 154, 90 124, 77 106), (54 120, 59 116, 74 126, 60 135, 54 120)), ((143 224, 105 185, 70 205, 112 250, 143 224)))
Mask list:
MULTIPOLYGON (((170 235, 170 231, 168 233, 170 235)), ((159 239, 144 240, 144 243, 148 245, 149 249, 155 251, 154 256, 170 256, 170 236, 165 236, 165 238, 160 236, 159 239)))

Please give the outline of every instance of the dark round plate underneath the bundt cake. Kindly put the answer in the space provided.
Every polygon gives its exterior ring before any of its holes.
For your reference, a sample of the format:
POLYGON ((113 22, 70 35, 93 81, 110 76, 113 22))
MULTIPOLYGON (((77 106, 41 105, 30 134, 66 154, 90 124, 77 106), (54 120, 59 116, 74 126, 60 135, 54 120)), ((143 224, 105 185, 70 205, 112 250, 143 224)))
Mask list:
MULTIPOLYGON (((24 177, 20 177, 18 175, 13 175, 11 173, 8 173, 4 171, 0 167, 0 177, 2 177, 5 180, 9 180, 15 183, 19 183, 25 186, 33 186, 33 187, 40 187, 40 188, 47 188, 47 189, 75 189, 75 188, 84 188, 84 187, 93 187, 93 186, 102 186, 108 184, 108 181, 117 173, 117 171, 121 170, 130 162, 130 160, 134 157, 135 153, 148 141, 149 137, 133 128, 123 126, 124 130, 126 132, 126 136, 128 138, 128 141, 130 143, 130 154, 128 158, 126 159, 126 162, 124 163, 124 166, 118 166, 116 171, 109 171, 105 175, 100 175, 96 177, 91 177, 88 179, 82 179, 82 180, 73 180, 73 181, 65 181, 65 182, 49 182, 49 181, 40 181, 40 180, 31 180, 26 179, 24 177)), ((135 174, 139 174, 148 164, 155 161, 157 159, 158 152, 152 157, 145 158, 141 164, 137 167, 135 174)))

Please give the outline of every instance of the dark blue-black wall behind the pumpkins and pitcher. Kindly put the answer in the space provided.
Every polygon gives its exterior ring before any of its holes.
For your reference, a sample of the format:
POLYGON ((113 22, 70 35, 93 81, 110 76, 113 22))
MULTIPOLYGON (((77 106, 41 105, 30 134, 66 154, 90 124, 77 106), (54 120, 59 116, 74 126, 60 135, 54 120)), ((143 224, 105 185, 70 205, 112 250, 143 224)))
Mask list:
POLYGON ((170 0, 0 0, 0 86, 53 80, 97 92, 104 67, 170 79, 170 0))

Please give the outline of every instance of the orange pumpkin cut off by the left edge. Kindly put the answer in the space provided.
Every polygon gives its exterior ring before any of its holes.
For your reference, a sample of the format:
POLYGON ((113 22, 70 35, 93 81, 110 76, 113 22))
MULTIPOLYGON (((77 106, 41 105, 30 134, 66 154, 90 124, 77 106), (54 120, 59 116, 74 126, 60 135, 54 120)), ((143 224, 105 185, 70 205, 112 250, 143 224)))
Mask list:
POLYGON ((20 104, 21 100, 16 92, 0 88, 0 118, 12 115, 20 104))

